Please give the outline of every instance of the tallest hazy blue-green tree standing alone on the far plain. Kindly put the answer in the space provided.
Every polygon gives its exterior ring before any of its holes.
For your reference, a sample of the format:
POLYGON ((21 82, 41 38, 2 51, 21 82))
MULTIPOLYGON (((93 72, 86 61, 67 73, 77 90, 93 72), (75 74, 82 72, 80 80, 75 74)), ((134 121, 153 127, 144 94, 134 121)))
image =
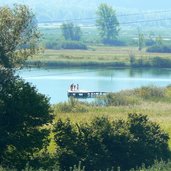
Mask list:
POLYGON ((113 8, 107 4, 101 4, 97 10, 97 17, 96 25, 103 42, 115 41, 119 33, 119 22, 113 8))

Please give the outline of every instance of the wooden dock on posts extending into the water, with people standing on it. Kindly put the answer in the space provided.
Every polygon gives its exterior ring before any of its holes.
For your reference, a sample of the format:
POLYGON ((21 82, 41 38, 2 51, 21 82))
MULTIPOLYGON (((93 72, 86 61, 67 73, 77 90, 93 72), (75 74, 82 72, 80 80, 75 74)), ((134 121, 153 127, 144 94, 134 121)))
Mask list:
POLYGON ((75 97, 75 98, 94 98, 97 96, 105 95, 108 92, 102 91, 85 91, 85 90, 76 90, 71 91, 68 90, 68 97, 75 97))

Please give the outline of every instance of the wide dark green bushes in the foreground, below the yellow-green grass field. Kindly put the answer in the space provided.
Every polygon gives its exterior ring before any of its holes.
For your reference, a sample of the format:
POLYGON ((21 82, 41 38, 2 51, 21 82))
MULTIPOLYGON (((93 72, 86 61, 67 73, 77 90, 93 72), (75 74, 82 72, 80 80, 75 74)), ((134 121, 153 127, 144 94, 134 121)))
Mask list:
POLYGON ((168 135, 141 114, 130 114, 127 121, 110 122, 102 117, 80 125, 59 120, 54 134, 56 157, 62 170, 79 161, 85 170, 112 166, 126 170, 143 163, 149 166, 169 156, 168 135))

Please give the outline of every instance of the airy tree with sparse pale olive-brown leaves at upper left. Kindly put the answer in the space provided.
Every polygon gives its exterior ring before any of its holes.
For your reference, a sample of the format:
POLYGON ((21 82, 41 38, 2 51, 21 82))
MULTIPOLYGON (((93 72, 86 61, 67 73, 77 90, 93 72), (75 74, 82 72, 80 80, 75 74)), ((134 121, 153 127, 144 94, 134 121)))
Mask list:
POLYGON ((21 65, 37 52, 39 37, 35 16, 27 6, 0 8, 0 66, 21 65))

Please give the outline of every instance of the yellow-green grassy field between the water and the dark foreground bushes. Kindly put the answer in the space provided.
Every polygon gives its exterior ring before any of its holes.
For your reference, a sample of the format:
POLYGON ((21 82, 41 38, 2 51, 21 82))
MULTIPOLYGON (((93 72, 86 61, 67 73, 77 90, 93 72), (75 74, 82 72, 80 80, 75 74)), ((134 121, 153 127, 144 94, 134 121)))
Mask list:
MULTIPOLYGON (((112 121, 126 119, 129 113, 139 113, 148 115, 151 121, 157 122, 171 137, 171 87, 164 89, 156 87, 139 88, 113 94, 116 101, 119 101, 121 96, 123 98, 120 100, 120 104, 105 106, 97 105, 99 102, 84 104, 73 99, 56 104, 53 106, 55 121, 59 118, 63 120, 69 118, 73 123, 81 123, 90 122, 94 117, 102 116, 108 117, 112 121)), ((169 147, 171 149, 171 139, 169 140, 169 147)), ((52 141, 49 150, 53 152, 54 149, 55 146, 52 141)))

